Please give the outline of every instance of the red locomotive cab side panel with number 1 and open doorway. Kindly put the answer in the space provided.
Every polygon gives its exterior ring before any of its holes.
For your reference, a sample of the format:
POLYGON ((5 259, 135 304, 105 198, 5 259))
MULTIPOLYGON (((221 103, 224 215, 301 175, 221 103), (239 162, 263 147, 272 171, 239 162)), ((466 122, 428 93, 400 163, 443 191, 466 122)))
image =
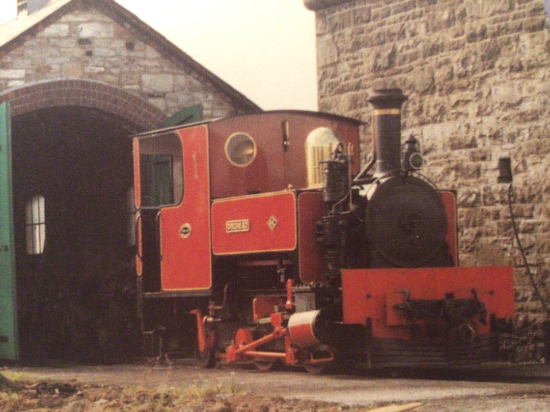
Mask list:
POLYGON ((136 138, 134 165, 144 292, 210 289, 207 127, 136 138))

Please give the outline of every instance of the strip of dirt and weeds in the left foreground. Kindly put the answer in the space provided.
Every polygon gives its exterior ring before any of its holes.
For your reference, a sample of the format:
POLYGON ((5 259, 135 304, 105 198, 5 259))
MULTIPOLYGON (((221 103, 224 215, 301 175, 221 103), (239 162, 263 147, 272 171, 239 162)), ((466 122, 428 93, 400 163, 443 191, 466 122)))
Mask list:
MULTIPOLYGON (((182 411, 182 412, 349 412, 355 408, 310 400, 259 396, 236 383, 227 386, 87 385, 77 382, 32 381, 32 376, 0 371, 0 411, 101 412, 101 411, 182 411), (2 376, 2 375, 0 375, 2 376)), ((373 405, 375 406, 375 405, 373 405)))

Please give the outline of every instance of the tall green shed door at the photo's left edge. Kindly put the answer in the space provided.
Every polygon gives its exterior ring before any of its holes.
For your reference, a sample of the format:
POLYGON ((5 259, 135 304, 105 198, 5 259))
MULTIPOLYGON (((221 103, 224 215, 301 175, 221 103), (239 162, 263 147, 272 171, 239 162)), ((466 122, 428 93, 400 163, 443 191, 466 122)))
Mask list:
POLYGON ((19 360, 9 103, 0 104, 0 359, 19 360))

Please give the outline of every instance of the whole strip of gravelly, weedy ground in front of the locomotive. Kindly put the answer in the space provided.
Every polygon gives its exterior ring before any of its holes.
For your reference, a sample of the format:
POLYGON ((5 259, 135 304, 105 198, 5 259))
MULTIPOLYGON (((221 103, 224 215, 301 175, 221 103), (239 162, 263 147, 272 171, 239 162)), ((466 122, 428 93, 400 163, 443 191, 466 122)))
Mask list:
MULTIPOLYGON (((421 403, 414 409, 419 412, 550 411, 550 366, 544 365, 313 376, 296 369, 260 372, 249 365, 201 370, 184 361, 170 365, 10 368, 4 375, 31 382, 27 386, 32 382, 46 382, 46 387, 54 388, 58 383, 53 382, 73 385, 74 393, 61 407, 64 411, 77 401, 73 407, 82 408, 75 411, 366 411, 413 402, 421 403), (172 399, 176 404, 154 409, 150 401, 155 397, 163 402, 172 399), (136 406, 136 399, 141 399, 138 404, 145 409, 136 406), (107 405, 111 409, 97 409, 107 405)), ((30 390, 32 394, 34 389, 30 390)), ((0 399, 0 411, 4 410, 8 409, 3 409, 0 399)))

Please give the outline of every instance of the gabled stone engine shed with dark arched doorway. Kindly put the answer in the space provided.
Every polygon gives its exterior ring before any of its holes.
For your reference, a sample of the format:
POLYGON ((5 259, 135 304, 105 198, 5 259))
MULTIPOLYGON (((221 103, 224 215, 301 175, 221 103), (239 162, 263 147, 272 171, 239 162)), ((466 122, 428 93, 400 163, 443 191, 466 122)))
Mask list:
POLYGON ((124 326, 108 322, 122 322, 113 313, 124 305, 106 302, 134 272, 128 136, 183 108, 195 120, 260 108, 116 1, 17 3, 19 18, 0 26, 0 103, 10 116, 0 108, 13 157, 0 179, 13 172, 21 347, 38 356, 113 346, 108 331, 124 326))

